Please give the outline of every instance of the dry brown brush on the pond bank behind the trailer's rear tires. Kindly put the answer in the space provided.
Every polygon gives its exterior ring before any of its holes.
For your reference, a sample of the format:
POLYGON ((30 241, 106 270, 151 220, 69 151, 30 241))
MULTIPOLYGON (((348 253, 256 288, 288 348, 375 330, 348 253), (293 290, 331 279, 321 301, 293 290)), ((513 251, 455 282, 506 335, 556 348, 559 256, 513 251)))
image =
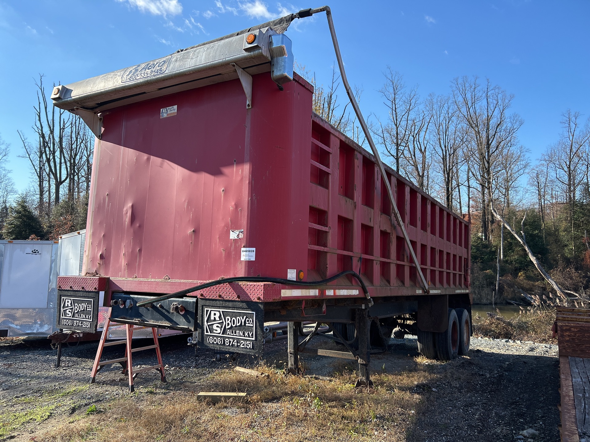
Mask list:
POLYGON ((473 324, 475 336, 494 339, 514 339, 556 344, 551 326, 555 322, 555 311, 533 309, 506 319, 504 316, 488 314, 473 324))

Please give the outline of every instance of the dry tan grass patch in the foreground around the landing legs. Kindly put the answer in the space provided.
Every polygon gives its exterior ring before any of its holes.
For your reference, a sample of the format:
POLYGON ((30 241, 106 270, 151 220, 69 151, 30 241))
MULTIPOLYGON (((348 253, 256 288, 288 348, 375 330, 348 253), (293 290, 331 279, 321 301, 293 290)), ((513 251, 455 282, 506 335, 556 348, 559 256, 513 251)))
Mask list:
POLYGON ((432 377, 420 369, 374 374, 375 388, 355 390, 356 374, 346 364, 329 378, 260 370, 269 377, 221 370, 196 386, 198 391, 247 392, 250 400, 244 403, 202 403, 196 391, 136 394, 110 403, 105 413, 60 425, 43 440, 405 440, 421 407, 415 386, 432 377))

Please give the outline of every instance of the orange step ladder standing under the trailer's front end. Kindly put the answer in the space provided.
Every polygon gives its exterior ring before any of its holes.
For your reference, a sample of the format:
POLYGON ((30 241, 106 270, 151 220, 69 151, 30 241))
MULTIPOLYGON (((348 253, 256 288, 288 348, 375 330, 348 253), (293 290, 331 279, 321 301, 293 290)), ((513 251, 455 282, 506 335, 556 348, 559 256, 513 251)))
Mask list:
POLYGON ((120 339, 119 341, 113 341, 113 342, 106 342, 107 338, 109 337, 109 327, 112 324, 122 325, 117 322, 111 321, 110 315, 111 315, 111 309, 109 308, 109 314, 107 315, 107 320, 104 322, 103 334, 100 337, 99 349, 96 351, 96 357, 94 358, 94 364, 92 366, 92 372, 90 374, 90 383, 94 384, 94 381, 96 381, 96 374, 100 371, 100 369, 102 367, 104 367, 104 365, 117 364, 117 363, 119 363, 123 366, 123 368, 124 368, 123 373, 126 373, 129 375, 129 391, 135 391, 135 387, 133 387, 133 380, 135 379, 137 374, 139 374, 143 371, 158 370, 160 372, 160 379, 162 380, 162 382, 166 382, 166 377, 164 376, 164 364, 162 362, 162 354, 160 354, 160 344, 158 342, 158 332, 156 332, 156 328, 125 324, 125 328, 126 328, 126 332, 127 332, 126 339, 120 339), (142 329, 146 329, 146 328, 152 329, 153 345, 146 345, 146 347, 132 348, 131 343, 132 343, 132 339, 133 339, 133 331, 134 330, 142 330, 142 329), (100 358, 103 354, 104 347, 109 347, 110 345, 119 345, 119 344, 126 344, 125 357, 117 358, 117 359, 109 359, 107 361, 100 360, 100 358), (158 364, 150 365, 149 367, 138 368, 137 370, 133 370, 133 358, 132 358, 133 353, 136 351, 149 350, 152 348, 156 349, 156 356, 158 357, 158 364))

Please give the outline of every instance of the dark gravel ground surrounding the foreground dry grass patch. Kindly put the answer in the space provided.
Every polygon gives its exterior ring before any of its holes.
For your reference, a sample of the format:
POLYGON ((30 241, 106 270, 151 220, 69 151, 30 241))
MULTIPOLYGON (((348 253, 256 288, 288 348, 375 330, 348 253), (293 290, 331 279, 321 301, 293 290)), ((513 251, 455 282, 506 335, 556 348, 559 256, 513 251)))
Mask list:
MULTIPOLYGON (((64 347, 62 365, 54 368, 56 355, 47 340, 0 340, 0 422, 12 423, 5 437, 42 440, 39 437, 48 428, 129 395, 119 365, 104 368, 95 384, 88 383, 96 345, 83 342, 64 347)), ((186 336, 160 339, 160 346, 168 382, 160 382, 155 371, 142 373, 135 381, 137 394, 194 390, 196 381, 219 368, 251 367, 259 362, 245 355, 234 359, 225 355, 215 361, 214 352, 202 349, 195 355, 194 347, 186 345, 186 336)), ((121 357, 123 349, 107 347, 103 359, 121 357)), ((282 367, 286 357, 286 340, 265 348, 267 365, 282 367)), ((134 365, 154 363, 150 350, 134 354, 134 365)), ((328 376, 342 361, 304 355, 304 364, 306 374, 328 376)), ((407 337, 392 339, 387 352, 373 355, 371 365, 375 371, 432 374, 428 384, 414 387, 424 407, 415 417, 408 441, 517 440, 526 428, 540 433, 535 440, 559 440, 556 345, 473 338, 468 357, 442 363, 421 357, 415 337, 407 337)))

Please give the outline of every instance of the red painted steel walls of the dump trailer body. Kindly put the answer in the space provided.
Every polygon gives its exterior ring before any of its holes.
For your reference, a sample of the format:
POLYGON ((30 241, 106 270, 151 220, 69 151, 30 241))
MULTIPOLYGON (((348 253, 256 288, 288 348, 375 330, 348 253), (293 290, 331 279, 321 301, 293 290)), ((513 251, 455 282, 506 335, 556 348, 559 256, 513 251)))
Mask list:
MULTIPOLYGON (((279 91, 268 73, 254 75, 252 106, 232 80, 108 111, 84 272, 109 276, 109 291, 166 293, 288 269, 319 281, 354 266, 372 296, 422 293, 372 154, 312 113, 309 83, 296 75, 279 91), (178 113, 160 118, 172 105, 178 113), (231 229, 243 237, 230 239, 231 229), (242 247, 255 248, 254 261, 241 260, 242 247)), ((386 179, 431 291, 468 292, 468 223, 389 168, 386 179)), ((201 295, 277 301, 285 289, 231 284, 201 295)))

